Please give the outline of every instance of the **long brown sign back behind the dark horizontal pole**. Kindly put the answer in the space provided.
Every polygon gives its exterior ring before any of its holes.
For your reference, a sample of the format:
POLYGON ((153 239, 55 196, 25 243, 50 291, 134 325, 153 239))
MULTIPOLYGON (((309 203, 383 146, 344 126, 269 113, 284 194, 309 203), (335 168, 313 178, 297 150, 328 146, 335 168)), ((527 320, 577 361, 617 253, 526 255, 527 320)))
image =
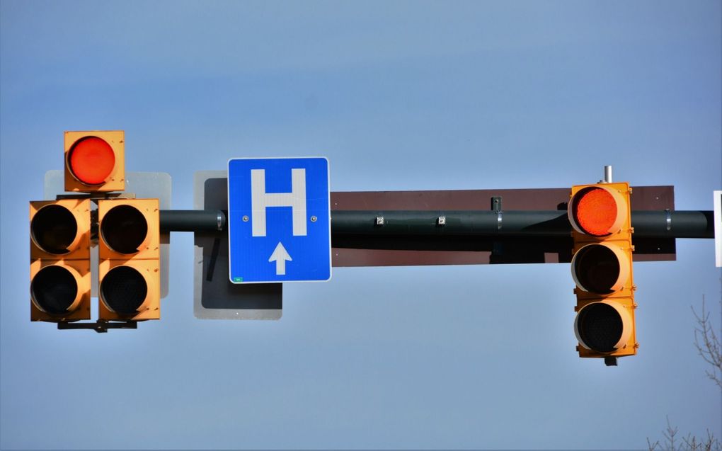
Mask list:
MULTIPOLYGON (((331 211, 345 210, 491 210, 501 198, 503 211, 566 210, 570 188, 461 191, 358 191, 331 193, 331 211)), ((634 187, 632 211, 674 210, 674 186, 634 187)), ((633 224, 632 224, 633 225, 633 224)), ((334 237, 333 266, 479 265, 496 263, 568 263, 570 237, 450 237, 425 242, 422 237, 334 237), (343 240, 343 241, 341 241, 343 240), (358 245, 360 246, 360 244, 358 245)), ((675 260, 674 238, 633 240, 635 261, 675 260)))

